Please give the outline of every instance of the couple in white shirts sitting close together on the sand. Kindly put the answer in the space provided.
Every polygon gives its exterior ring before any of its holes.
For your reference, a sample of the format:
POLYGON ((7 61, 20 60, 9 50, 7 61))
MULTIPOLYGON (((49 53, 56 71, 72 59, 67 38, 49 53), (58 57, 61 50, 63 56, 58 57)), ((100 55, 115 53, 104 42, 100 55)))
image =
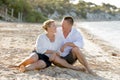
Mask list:
POLYGON ((18 66, 21 72, 35 69, 43 69, 51 66, 51 63, 74 70, 86 70, 93 74, 88 63, 79 48, 83 47, 82 36, 73 28, 74 20, 67 16, 62 20, 62 27, 56 28, 54 20, 47 20, 43 28, 47 32, 38 36, 35 50, 18 66), (84 67, 73 66, 78 60, 84 67))

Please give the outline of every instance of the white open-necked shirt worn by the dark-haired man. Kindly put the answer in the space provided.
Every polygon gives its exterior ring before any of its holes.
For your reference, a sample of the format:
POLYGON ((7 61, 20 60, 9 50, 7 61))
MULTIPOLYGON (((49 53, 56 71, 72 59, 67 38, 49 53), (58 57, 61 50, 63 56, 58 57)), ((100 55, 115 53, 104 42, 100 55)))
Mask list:
MULTIPOLYGON (((60 36, 61 45, 64 45, 66 42, 73 42, 79 48, 83 47, 83 38, 77 29, 72 28, 71 32, 65 38, 63 35, 62 27, 57 28, 57 35, 60 36)), ((66 56, 69 54, 72 47, 68 46, 64 49, 64 52, 60 54, 60 56, 66 56)))

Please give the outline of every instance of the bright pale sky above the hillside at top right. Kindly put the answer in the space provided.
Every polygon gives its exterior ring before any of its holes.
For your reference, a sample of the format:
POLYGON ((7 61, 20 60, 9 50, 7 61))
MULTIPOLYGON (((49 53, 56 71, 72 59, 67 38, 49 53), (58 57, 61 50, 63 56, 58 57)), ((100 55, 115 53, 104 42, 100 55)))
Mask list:
MULTIPOLYGON (((77 3, 79 0, 71 0, 74 3, 77 3)), ((101 5, 101 3, 109 3, 111 5, 115 5, 116 7, 120 8, 120 0, 83 0, 85 2, 92 2, 97 5, 101 5)))

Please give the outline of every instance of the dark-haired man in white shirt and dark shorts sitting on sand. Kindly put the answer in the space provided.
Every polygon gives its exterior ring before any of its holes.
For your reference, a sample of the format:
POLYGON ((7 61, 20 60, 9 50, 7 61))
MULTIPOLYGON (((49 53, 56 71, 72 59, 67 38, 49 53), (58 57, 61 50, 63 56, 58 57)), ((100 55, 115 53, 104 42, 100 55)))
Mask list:
POLYGON ((62 28, 60 27, 57 30, 57 35, 61 37, 61 52, 59 54, 60 56, 56 56, 52 59, 52 62, 57 66, 77 70, 79 68, 73 66, 72 64, 78 60, 89 73, 94 74, 79 49, 83 47, 83 39, 80 32, 73 28, 73 23, 74 20, 72 17, 68 16, 63 18, 62 28))

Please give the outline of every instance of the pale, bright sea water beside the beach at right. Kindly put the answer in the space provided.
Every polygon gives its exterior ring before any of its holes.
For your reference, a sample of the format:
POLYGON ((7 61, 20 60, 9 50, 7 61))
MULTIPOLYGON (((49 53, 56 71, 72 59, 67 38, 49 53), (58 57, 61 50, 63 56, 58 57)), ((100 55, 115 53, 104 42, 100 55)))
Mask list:
POLYGON ((77 26, 88 29, 92 34, 120 49, 120 21, 78 22, 77 26))

